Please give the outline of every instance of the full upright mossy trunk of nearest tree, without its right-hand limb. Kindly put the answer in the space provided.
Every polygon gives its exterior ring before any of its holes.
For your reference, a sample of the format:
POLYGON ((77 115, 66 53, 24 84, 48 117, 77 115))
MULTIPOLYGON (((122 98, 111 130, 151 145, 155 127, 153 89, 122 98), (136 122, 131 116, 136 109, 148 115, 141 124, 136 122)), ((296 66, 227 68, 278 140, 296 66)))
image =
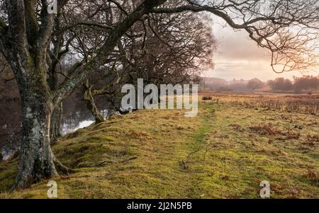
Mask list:
POLYGON ((50 120, 55 103, 47 84, 47 47, 53 16, 39 28, 33 8, 37 1, 8 1, 9 27, 1 38, 2 51, 11 65, 21 96, 23 119, 18 175, 13 188, 57 175, 50 148, 50 120), (27 27, 28 25, 28 27, 27 27), (38 34, 36 33, 38 32, 38 34))

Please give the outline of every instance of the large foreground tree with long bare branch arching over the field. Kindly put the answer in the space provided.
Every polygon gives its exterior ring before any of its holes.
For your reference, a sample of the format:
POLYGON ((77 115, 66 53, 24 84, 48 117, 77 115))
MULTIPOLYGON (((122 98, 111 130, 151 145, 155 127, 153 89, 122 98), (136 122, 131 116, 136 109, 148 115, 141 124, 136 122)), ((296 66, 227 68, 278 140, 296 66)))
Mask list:
MULTIPOLYGON (((58 0, 57 16, 48 13, 45 0, 1 0, 0 51, 9 62, 20 91, 23 107, 21 159, 14 187, 67 172, 50 149, 50 120, 53 111, 89 75, 108 64, 114 47, 135 23, 150 14, 207 12, 223 18, 230 27, 247 31, 260 47, 272 52, 272 66, 281 71, 302 70, 317 65, 318 1, 273 0, 266 9, 262 1, 74 1, 58 0), (135 6, 132 2, 138 2, 135 6), (174 2, 174 5, 172 5, 174 2), (111 4, 110 4, 111 3, 111 4), (125 8, 122 6, 125 4, 125 8), (82 19, 81 8, 94 12, 82 19), (70 13, 73 11, 73 13, 70 13), (68 12, 70 16, 62 16, 68 12), (110 13, 111 23, 102 22, 110 13), (72 16, 71 16, 72 15, 72 16), (71 22, 70 22, 71 21, 71 22), (68 52, 72 30, 108 29, 91 57, 79 61, 67 71, 65 81, 53 89, 48 82, 54 60, 50 54, 68 52), (55 45, 58 51, 52 50, 55 45), (65 39, 67 38, 67 39, 65 39)), ((58 58, 58 57, 57 57, 58 58)), ((52 69, 56 72, 56 69, 52 69)))

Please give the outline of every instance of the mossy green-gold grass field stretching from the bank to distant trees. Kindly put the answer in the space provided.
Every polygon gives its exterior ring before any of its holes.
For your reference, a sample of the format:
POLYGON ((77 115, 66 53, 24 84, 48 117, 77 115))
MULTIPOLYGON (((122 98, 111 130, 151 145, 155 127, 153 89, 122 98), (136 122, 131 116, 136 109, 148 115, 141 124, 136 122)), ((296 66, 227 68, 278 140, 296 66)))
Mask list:
MULTIPOLYGON (((140 110, 53 146, 75 173, 59 198, 319 198, 319 96, 205 93, 197 117, 140 110)), ((47 181, 8 193, 18 159, 0 163, 0 197, 47 197, 47 181)))

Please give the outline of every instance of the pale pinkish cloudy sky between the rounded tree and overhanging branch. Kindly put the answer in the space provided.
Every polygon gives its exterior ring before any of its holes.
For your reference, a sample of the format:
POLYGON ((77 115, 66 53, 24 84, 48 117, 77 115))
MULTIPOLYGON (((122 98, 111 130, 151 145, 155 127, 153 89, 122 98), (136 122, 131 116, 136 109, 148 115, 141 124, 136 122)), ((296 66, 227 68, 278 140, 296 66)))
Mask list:
MULTIPOLYGON (((250 40, 245 30, 233 30, 220 18, 213 20, 213 34, 218 42, 218 50, 213 56, 215 69, 204 72, 203 76, 226 80, 253 79, 262 81, 284 77, 302 76, 298 71, 276 74, 271 64, 271 56, 267 50, 258 47, 250 40)), ((317 72, 308 74, 317 76, 317 72)))

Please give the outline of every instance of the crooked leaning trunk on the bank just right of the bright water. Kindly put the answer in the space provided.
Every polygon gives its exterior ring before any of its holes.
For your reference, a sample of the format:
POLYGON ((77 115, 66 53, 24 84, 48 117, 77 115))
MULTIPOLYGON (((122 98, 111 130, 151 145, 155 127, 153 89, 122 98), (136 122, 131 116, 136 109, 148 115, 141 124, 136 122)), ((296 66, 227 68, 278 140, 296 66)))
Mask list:
POLYGON ((86 107, 92 113, 95 122, 96 123, 104 122, 105 121, 104 117, 100 113, 100 110, 95 105, 94 98, 93 98, 92 93, 91 93, 91 86, 89 86, 88 83, 86 83, 86 85, 84 85, 83 99, 86 101, 86 107))

